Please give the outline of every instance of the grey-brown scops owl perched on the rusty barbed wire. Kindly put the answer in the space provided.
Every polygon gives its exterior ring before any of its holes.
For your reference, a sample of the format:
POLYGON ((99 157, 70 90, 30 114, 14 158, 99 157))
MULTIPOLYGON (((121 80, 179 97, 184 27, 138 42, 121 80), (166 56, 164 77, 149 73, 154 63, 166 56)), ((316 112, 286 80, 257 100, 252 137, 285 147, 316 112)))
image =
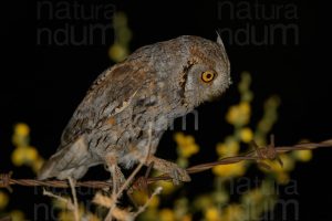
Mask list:
POLYGON ((118 166, 143 162, 189 181, 185 169, 154 154, 176 117, 226 91, 229 72, 219 35, 216 42, 184 35, 136 50, 92 84, 39 179, 80 179, 100 164, 116 165, 122 176, 118 166))

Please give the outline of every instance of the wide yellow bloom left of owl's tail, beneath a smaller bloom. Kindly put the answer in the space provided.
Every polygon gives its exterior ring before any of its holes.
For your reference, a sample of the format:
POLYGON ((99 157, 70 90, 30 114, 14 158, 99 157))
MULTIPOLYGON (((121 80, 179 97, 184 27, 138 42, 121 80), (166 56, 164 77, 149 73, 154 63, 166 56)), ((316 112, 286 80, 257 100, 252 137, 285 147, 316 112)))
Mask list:
POLYGON ((11 155, 14 166, 19 167, 24 164, 31 165, 39 157, 34 147, 17 147, 11 155))

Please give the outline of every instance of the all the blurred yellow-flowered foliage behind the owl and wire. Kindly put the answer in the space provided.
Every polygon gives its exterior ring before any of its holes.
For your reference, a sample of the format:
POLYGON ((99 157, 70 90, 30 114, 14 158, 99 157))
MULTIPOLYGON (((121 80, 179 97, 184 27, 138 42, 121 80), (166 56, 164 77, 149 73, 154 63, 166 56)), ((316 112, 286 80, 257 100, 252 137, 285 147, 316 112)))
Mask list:
MULTIPOLYGON (((110 46, 108 56, 115 62, 123 61, 129 53, 129 41, 132 31, 127 27, 127 17, 123 12, 114 15, 115 41, 110 46)), ((237 156, 250 150, 248 144, 253 139, 259 145, 267 144, 267 136, 271 131, 278 119, 277 109, 280 105, 278 96, 269 97, 263 105, 263 115, 255 125, 251 122, 251 102, 253 93, 250 91, 251 75, 248 72, 241 74, 241 81, 238 84, 239 102, 228 108, 225 119, 232 125, 234 133, 225 137, 224 140, 216 144, 216 160, 229 156, 237 156)), ((190 157, 199 152, 199 145, 196 144, 191 135, 185 135, 179 131, 174 135, 177 144, 177 164, 180 167, 189 165, 190 157)), ((35 147, 30 145, 30 127, 24 123, 14 125, 11 160, 13 166, 28 166, 37 172, 43 164, 43 158, 39 155, 35 147)), ((242 221, 260 220, 260 217, 272 210, 278 196, 273 190, 276 181, 279 185, 287 185, 290 181, 290 172, 294 169, 297 161, 309 161, 312 158, 310 150, 293 151, 280 156, 283 166, 277 161, 267 161, 270 169, 258 167, 263 172, 264 178, 259 187, 251 188, 245 193, 234 198, 230 191, 230 180, 246 176, 249 167, 257 167, 251 161, 241 161, 232 165, 221 165, 212 168, 215 180, 207 182, 215 183, 212 189, 205 192, 196 192, 194 196, 178 196, 177 190, 181 187, 175 187, 168 181, 158 181, 154 186, 163 187, 160 196, 154 197, 147 209, 138 217, 138 220, 158 220, 160 221, 190 221, 199 219, 205 221, 242 221), (169 199, 173 199, 169 207, 169 199), (168 202, 168 203, 165 203, 168 202)), ((193 180, 193 182, 199 180, 193 180)), ((148 200, 144 191, 135 191, 133 199, 136 204, 142 206, 148 200)), ((9 193, 0 190, 0 214, 3 215, 10 201, 9 193)), ((53 207, 59 209, 59 220, 73 220, 73 213, 66 210, 66 204, 59 199, 52 200, 53 207)), ((79 211, 82 220, 101 220, 91 211, 85 211, 83 202, 80 203, 79 211)), ((13 221, 24 220, 24 214, 19 210, 11 210, 7 214, 12 217, 13 221)))

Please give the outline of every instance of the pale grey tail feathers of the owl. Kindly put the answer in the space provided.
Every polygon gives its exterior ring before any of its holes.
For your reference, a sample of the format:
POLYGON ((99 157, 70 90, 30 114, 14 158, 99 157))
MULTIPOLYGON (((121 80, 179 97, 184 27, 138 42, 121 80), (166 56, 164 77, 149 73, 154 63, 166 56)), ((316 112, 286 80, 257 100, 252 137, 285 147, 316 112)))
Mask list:
POLYGON ((87 171, 86 164, 89 152, 83 139, 58 150, 41 168, 38 173, 39 180, 56 177, 58 179, 80 179, 87 171))

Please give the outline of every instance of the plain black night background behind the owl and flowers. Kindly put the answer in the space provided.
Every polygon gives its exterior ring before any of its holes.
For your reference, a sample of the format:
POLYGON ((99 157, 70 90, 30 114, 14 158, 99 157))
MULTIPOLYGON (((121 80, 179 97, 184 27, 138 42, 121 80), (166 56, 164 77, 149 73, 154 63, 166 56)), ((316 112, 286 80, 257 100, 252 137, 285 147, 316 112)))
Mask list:
MULTIPOLYGON (((50 1, 49 1, 50 2, 50 1)), ((255 10, 259 3, 264 10, 276 9, 278 6, 293 4, 297 18, 288 19, 273 15, 272 20, 263 18, 231 19, 222 11, 218 17, 220 1, 77 1, 87 8, 91 4, 114 4, 116 11, 124 11, 128 15, 128 25, 133 31, 131 50, 157 41, 168 40, 184 34, 200 35, 214 40, 215 30, 229 28, 232 32, 246 24, 253 25, 258 31, 255 35, 262 35, 262 27, 269 24, 294 24, 299 28, 299 43, 292 35, 287 36, 283 44, 280 35, 276 42, 256 45, 251 42, 240 45, 224 39, 231 62, 234 82, 239 81, 242 71, 252 73, 255 92, 253 122, 261 114, 263 101, 271 94, 281 97, 279 120, 273 128, 277 143, 294 144, 301 138, 320 141, 331 138, 332 107, 331 107, 331 69, 328 51, 328 12, 326 6, 319 1, 248 1, 255 10), (325 53, 323 53, 325 51, 325 53)), ((232 1, 229 1, 232 2, 232 1)), ((234 1, 247 2, 247 1, 234 1)), ((56 6, 54 3, 54 6, 56 6)), ((255 11, 252 12, 255 13, 255 11)), ((270 14, 272 12, 266 12, 270 14)), ((10 144, 12 125, 25 122, 32 128, 32 145, 37 146, 42 156, 49 157, 54 152, 61 131, 70 119, 77 104, 83 98, 92 81, 112 64, 107 56, 108 46, 114 41, 110 32, 106 43, 96 41, 84 45, 59 45, 37 42, 37 32, 41 28, 56 30, 69 23, 80 30, 80 27, 91 23, 107 24, 108 20, 72 19, 50 20, 44 14, 37 18, 38 8, 34 1, 8 1, 0 11, 0 164, 1 171, 14 170, 20 178, 32 177, 28 168, 13 168, 10 162, 10 144)), ((80 31, 75 32, 80 35, 80 31)), ((199 130, 188 129, 188 134, 197 137, 201 150, 195 162, 214 160, 214 148, 229 126, 224 125, 227 106, 238 102, 235 87, 218 102, 208 103, 198 108, 199 130), (216 124, 218 122, 218 124, 216 124), (224 123, 224 124, 222 124, 224 123)), ((167 156, 174 151, 175 144, 172 133, 164 136, 159 155, 167 156)), ((331 220, 331 181, 330 161, 332 150, 319 149, 310 164, 299 165, 292 172, 297 180, 299 194, 283 196, 282 199, 295 199, 300 202, 299 220, 331 220)), ((172 157, 172 154, 168 156, 172 157)), ((167 157, 165 157, 167 158, 167 157)), ((207 172, 208 173, 208 172, 207 172)), ((190 188, 203 190, 211 187, 200 182, 207 175, 194 177, 190 188), (207 187, 208 186, 208 187, 207 187)), ((43 200, 33 194, 29 188, 14 188, 10 207, 30 211, 33 219, 33 202, 43 200), (29 198, 27 200, 21 199, 29 198)), ((278 209, 277 209, 278 213, 278 209)), ((274 220, 282 220, 281 214, 274 220)), ((293 217, 288 220, 294 220, 293 217)))

